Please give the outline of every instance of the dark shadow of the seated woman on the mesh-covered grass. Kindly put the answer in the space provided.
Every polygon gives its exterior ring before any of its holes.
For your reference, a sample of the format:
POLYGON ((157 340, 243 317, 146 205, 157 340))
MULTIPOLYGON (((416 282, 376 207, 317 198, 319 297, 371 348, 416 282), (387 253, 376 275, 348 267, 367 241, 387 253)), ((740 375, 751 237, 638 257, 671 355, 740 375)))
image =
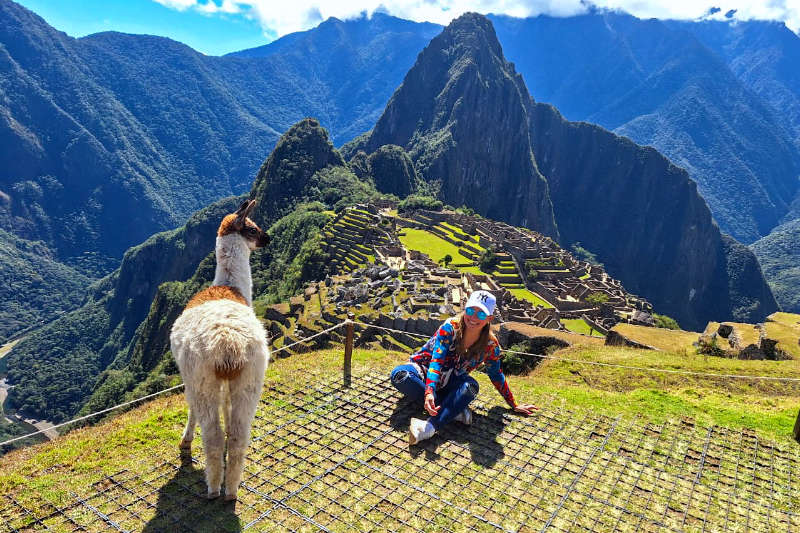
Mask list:
MULTIPOLYGON (((413 404, 405 398, 397 402, 394 412, 389 417, 389 424, 398 431, 408 431, 411 417, 424 418, 420 405, 413 404)), ((441 457, 436 449, 444 442, 450 440, 469 448, 472 461, 475 464, 491 468, 497 461, 505 457, 505 452, 497 436, 503 431, 506 422, 503 414, 508 410, 496 405, 489 409, 486 415, 473 413, 472 425, 465 426, 460 422, 451 422, 433 438, 409 448, 409 453, 416 457, 425 453, 431 461, 441 457)))

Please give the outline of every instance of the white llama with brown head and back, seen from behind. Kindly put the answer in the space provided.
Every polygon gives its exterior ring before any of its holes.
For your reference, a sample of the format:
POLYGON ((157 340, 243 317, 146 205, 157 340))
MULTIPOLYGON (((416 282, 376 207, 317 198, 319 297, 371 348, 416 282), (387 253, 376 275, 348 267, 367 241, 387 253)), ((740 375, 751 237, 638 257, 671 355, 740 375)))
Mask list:
POLYGON ((182 452, 191 451, 195 424, 199 422, 209 499, 220 495, 227 435, 225 500, 236 500, 244 454, 250 444, 250 425, 269 361, 264 327, 252 309, 250 252, 269 242, 267 234, 247 218, 255 203, 245 200, 222 220, 217 231, 214 282, 194 295, 170 334, 189 403, 189 420, 180 448, 182 452), (225 409, 224 435, 221 407, 225 409))

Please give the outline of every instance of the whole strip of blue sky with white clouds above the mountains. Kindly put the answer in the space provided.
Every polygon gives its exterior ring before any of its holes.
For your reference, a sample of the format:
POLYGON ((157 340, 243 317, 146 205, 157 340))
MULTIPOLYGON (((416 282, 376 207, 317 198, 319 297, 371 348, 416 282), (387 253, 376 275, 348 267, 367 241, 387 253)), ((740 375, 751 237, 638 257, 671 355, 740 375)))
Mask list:
MULTIPOLYGON (((328 17, 347 19, 377 9, 410 20, 447 24, 465 11, 517 17, 585 12, 589 0, 17 0, 73 37, 100 31, 170 37, 205 54, 261 46, 313 28, 328 17)), ((800 30, 800 0, 591 0, 637 17, 781 20, 800 30)))

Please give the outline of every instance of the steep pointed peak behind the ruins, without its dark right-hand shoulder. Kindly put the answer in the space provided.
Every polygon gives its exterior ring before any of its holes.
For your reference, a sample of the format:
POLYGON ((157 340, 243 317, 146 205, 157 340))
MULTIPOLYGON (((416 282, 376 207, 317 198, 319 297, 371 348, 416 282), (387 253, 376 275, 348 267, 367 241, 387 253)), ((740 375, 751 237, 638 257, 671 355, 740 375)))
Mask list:
POLYGON ((349 150, 401 146, 425 180, 441 180, 446 203, 557 237, 531 152, 528 101, 491 22, 464 15, 431 40, 363 146, 349 150))

